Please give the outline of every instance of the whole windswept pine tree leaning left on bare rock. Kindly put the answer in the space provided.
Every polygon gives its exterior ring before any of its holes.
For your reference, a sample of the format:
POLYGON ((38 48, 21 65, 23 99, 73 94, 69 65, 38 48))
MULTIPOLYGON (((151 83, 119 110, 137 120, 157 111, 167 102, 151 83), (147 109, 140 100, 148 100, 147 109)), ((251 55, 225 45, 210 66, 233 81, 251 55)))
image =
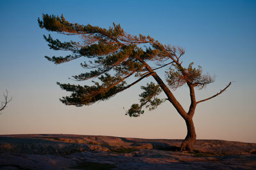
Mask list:
POLYGON ((181 150, 193 149, 196 140, 193 115, 196 105, 208 101, 213 97, 219 96, 231 84, 228 85, 207 99, 196 101, 195 88, 203 89, 214 78, 209 74, 202 74, 202 67, 193 67, 193 62, 188 67, 182 66, 180 57, 184 55, 182 48, 163 45, 150 36, 132 36, 122 29, 120 25, 113 24, 113 27, 105 29, 98 26, 72 24, 61 17, 43 14, 42 20, 38 18, 38 24, 47 31, 58 32, 60 34, 73 36, 77 35, 82 41, 64 41, 53 39, 51 35, 45 36, 52 50, 63 50, 72 54, 65 57, 45 58, 55 64, 69 62, 71 60, 85 57, 81 66, 90 70, 73 76, 76 81, 85 81, 92 78, 93 85, 74 85, 70 83, 59 83, 61 89, 71 92, 70 96, 63 97, 60 101, 67 105, 84 106, 97 101, 105 101, 115 94, 129 89, 139 81, 152 76, 156 83, 150 82, 146 86, 141 86, 143 92, 140 94, 140 104, 132 104, 126 112, 130 117, 139 117, 144 113, 143 107, 154 110, 164 101, 169 101, 177 112, 184 118, 188 134, 182 145, 181 150), (169 66, 166 77, 163 81, 157 74, 157 70, 169 66), (128 78, 135 81, 127 83, 128 78), (191 104, 189 111, 186 112, 179 101, 173 96, 170 89, 175 90, 182 85, 187 85, 191 104), (157 96, 164 92, 166 99, 159 99, 157 96))

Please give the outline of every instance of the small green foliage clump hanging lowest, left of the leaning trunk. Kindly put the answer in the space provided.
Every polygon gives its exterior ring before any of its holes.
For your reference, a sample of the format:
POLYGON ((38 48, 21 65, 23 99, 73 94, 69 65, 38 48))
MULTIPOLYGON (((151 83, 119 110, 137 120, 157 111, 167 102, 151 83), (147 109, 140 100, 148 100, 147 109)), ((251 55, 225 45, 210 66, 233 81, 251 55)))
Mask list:
POLYGON ((132 104, 131 108, 125 115, 129 115, 130 117, 140 117, 140 115, 144 113, 144 111, 141 110, 143 106, 151 111, 156 109, 157 106, 165 101, 165 99, 159 99, 156 97, 162 92, 159 85, 155 85, 153 82, 150 82, 147 83, 147 86, 141 86, 141 89, 144 91, 140 94, 140 105, 132 104))

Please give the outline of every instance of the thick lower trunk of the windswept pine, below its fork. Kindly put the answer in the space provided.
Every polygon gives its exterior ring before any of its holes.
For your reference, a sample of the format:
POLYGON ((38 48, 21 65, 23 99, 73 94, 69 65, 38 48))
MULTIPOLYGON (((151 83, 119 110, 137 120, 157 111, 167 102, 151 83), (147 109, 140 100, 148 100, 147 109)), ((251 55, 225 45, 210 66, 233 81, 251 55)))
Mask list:
POLYGON ((193 150, 196 141, 196 132, 192 117, 185 118, 188 134, 180 146, 180 150, 193 150))

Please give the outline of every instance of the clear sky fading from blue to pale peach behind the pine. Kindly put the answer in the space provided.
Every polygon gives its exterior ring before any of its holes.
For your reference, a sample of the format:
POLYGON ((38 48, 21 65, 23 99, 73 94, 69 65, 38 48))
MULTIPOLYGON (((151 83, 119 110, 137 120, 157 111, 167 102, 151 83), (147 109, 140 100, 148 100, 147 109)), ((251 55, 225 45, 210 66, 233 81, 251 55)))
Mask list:
MULTIPOLYGON (((1 111, 0 134, 86 134, 129 138, 184 139, 186 124, 166 102, 141 117, 125 110, 138 103, 138 83, 108 101, 91 106, 65 106, 69 95, 56 85, 74 83, 84 73, 72 61, 58 66, 44 58, 65 55, 50 50, 43 35, 68 41, 38 27, 42 13, 63 14, 69 22, 108 28, 115 22, 132 35, 149 35, 186 50, 184 65, 194 62, 214 83, 196 90, 196 99, 230 88, 198 104, 193 117, 197 139, 256 143, 256 1, 0 1, 0 101, 8 90, 12 101, 1 111)), ((162 70, 159 72, 164 79, 162 70)), ((89 82, 83 82, 84 85, 89 82)), ((173 94, 189 108, 188 87, 173 94)))

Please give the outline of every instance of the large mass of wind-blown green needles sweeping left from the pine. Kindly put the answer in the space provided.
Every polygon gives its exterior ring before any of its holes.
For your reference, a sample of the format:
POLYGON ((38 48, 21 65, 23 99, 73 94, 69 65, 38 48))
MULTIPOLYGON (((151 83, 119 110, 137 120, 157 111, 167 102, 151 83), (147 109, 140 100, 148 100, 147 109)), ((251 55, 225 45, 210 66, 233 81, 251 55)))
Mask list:
MULTIPOLYGON (((140 78, 141 74, 145 72, 145 66, 138 59, 156 59, 159 52, 158 49, 150 47, 144 51, 138 45, 148 41, 161 45, 150 36, 131 36, 115 23, 113 27, 105 29, 90 24, 72 24, 67 22, 63 15, 58 17, 43 14, 42 20, 38 18, 38 24, 42 29, 48 31, 65 35, 79 35, 83 40, 81 42, 61 42, 59 39, 53 39, 50 34, 44 36, 50 49, 72 52, 72 55, 65 57, 45 56, 47 60, 54 64, 61 64, 79 57, 86 57, 86 62, 81 63, 81 66, 84 69, 93 70, 72 77, 77 81, 99 77, 98 80, 101 81, 101 84, 100 81, 93 81, 94 85, 92 86, 58 83, 61 89, 72 92, 70 96, 60 99, 67 105, 83 106, 96 101, 104 101, 127 89, 129 85, 125 86, 126 78, 135 73, 135 76, 140 78), (110 72, 113 75, 109 74, 110 72)), ((152 106, 159 103, 157 99, 150 102, 152 106)))

